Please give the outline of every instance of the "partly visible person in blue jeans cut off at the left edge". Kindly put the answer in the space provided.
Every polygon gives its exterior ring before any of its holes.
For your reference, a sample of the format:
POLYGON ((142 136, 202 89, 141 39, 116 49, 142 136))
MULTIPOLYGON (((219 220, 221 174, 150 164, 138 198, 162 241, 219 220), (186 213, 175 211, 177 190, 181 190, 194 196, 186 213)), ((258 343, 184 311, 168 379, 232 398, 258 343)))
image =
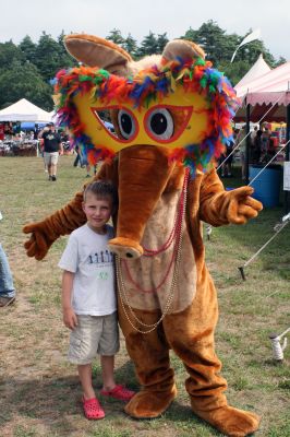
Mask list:
MULTIPOLYGON (((0 220, 2 214, 0 212, 0 220)), ((13 304, 15 300, 15 288, 4 249, 0 243, 0 308, 13 304)))

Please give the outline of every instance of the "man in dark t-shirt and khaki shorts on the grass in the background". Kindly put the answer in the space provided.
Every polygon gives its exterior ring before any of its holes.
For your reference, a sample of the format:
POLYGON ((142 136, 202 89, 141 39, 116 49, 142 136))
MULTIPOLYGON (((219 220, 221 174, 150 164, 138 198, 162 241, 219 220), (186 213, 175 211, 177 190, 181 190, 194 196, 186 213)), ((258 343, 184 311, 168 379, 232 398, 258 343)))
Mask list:
POLYGON ((62 144, 53 122, 48 123, 47 128, 44 129, 39 137, 44 140, 44 160, 48 169, 48 180, 56 181, 59 154, 62 154, 62 144))

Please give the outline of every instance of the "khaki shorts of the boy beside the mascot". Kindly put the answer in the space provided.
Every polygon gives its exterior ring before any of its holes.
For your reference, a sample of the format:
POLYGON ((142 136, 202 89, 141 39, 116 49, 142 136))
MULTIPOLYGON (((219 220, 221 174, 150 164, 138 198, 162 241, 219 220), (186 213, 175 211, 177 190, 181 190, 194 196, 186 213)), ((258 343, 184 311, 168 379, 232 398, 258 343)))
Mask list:
POLYGON ((119 351, 117 312, 108 316, 77 315, 77 321, 70 336, 68 358, 71 363, 90 364, 97 354, 112 356, 119 351))

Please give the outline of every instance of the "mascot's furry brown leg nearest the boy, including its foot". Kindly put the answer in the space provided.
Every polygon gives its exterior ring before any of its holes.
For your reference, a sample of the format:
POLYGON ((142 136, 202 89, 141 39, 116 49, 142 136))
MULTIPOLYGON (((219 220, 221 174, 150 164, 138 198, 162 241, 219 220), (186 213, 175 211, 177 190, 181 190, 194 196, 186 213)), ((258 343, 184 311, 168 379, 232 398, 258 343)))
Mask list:
MULTIPOLYGON (((130 311, 129 311, 130 314, 130 311)), ((145 323, 155 323, 159 312, 134 310, 145 323)), ((132 318, 132 316, 131 316, 132 318)), ((169 347, 161 324, 153 332, 137 332, 124 316, 119 305, 119 321, 125 336, 126 350, 134 362, 142 390, 125 405, 125 412, 136 418, 153 418, 162 414, 177 395, 174 373, 169 363, 169 347)), ((144 331, 136 320, 133 324, 144 331)))

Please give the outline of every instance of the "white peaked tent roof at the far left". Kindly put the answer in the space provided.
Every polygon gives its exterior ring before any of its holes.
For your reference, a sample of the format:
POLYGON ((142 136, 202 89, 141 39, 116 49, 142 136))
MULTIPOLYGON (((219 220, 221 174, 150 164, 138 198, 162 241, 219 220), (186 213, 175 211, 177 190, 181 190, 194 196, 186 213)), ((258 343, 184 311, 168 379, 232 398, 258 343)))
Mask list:
POLYGON ((22 98, 13 105, 0 110, 0 121, 51 121, 51 115, 38 106, 22 98))

